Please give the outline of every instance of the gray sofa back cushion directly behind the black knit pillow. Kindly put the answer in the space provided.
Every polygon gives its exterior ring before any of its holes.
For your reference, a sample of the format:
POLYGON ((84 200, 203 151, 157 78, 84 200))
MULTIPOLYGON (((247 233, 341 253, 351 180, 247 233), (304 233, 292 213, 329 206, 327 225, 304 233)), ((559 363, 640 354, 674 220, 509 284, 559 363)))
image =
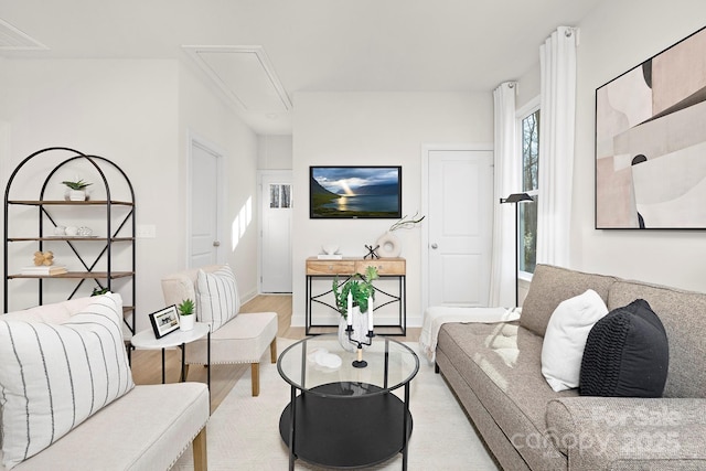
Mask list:
POLYGON ((706 295, 638 281, 617 281, 608 309, 646 300, 659 315, 670 342, 670 371, 664 397, 706 398, 706 295))

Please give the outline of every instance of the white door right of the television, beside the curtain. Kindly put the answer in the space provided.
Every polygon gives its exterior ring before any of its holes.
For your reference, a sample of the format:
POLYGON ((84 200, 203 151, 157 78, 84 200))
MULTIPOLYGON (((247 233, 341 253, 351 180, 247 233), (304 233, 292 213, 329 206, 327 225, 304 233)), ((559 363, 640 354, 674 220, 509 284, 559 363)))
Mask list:
POLYGON ((427 306, 488 306, 493 153, 428 151, 427 306))

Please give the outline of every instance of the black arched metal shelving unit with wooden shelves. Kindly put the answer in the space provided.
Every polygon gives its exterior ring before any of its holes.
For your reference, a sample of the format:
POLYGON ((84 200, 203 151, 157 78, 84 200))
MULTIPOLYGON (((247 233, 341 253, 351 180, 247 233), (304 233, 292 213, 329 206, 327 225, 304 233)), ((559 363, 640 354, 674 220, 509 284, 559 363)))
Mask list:
MULTIPOLYGON (((103 194, 104 192, 99 193, 103 194)), ((30 216, 24 215, 23 220, 26 217, 30 216)), ((66 217, 65 214, 64 217, 66 217)), ((53 292, 65 290, 66 299, 73 299, 81 292, 82 287, 90 288, 85 286, 87 282, 93 283, 94 289, 113 290, 117 280, 125 280, 127 282, 122 285, 120 293, 126 304, 124 306, 122 315, 127 329, 126 336, 135 334, 135 303, 137 299, 135 221, 135 191, 132 184, 127 174, 110 160, 66 147, 51 147, 26 157, 10 175, 4 192, 4 312, 8 312, 10 298, 13 296, 11 289, 12 280, 36 280, 38 304, 43 303, 45 290, 50 287, 50 283, 53 292), (58 197, 46 197, 50 184, 61 184, 57 172, 76 164, 85 167, 93 175, 97 175, 98 182, 94 184, 99 185, 103 183, 105 199, 66 201, 58 197), (41 172, 36 171, 38 168, 41 169, 41 172), (18 179, 19 176, 21 179, 18 179), (113 186, 117 184, 121 188, 121 193, 125 193, 120 194, 119 199, 114 195, 109 178, 114 179, 113 186), (122 181, 115 182, 116 178, 122 181), (15 179, 18 180, 17 183, 15 179), (23 195, 35 194, 36 200, 17 196, 19 193, 23 195), (30 214, 34 213, 32 217, 35 217, 38 223, 34 229, 28 229, 29 225, 26 224, 18 224, 19 226, 21 225, 21 228, 18 229, 22 233, 20 235, 17 234, 18 231, 14 231, 17 222, 13 221, 13 215, 11 214, 12 208, 18 206, 30 208, 30 214), (117 211, 118 207, 121 211, 117 211), (65 213, 66 211, 71 214, 74 208, 95 212, 96 217, 101 217, 100 215, 105 214, 105 229, 101 228, 101 235, 95 237, 53 235, 54 228, 61 225, 57 222, 56 214, 58 212, 65 213), (33 210, 36 211, 34 212, 33 210), (28 234, 24 234, 25 232, 28 234), (13 235, 10 236, 10 234, 13 235), (42 251, 56 247, 56 244, 66 244, 69 248, 68 254, 74 260, 78 261, 79 268, 53 276, 10 272, 11 260, 13 259, 13 255, 10 251, 11 244, 34 244, 35 249, 42 251), (85 250, 86 244, 94 246, 90 250, 85 250), (114 259, 118 245, 120 245, 121 249, 129 251, 127 256, 120 258, 120 263, 116 263, 114 259), (62 281, 60 285, 54 280, 65 280, 65 282, 62 281), (66 286, 71 288, 66 289, 66 286)))

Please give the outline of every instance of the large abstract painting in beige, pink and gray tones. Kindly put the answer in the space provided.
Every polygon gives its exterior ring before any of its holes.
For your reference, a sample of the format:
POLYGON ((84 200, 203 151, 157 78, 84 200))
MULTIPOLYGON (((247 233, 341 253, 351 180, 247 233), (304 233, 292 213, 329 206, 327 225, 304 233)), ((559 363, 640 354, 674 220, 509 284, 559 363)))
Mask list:
POLYGON ((706 228, 706 29, 596 89, 596 228, 706 228))

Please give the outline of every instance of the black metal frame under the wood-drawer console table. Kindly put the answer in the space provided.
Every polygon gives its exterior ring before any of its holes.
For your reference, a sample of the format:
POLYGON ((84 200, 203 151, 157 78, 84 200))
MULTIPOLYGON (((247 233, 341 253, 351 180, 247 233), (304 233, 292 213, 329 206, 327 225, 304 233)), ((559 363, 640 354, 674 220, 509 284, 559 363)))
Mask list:
MULTIPOLYGON (((311 328, 338 328, 339 324, 313 324, 312 322, 312 313, 311 313, 311 308, 313 306, 313 303, 318 303, 318 304, 322 304, 328 308, 331 308, 333 311, 338 312, 335 306, 323 300, 324 297, 331 295, 333 292, 333 289, 329 289, 324 292, 321 292, 319 295, 312 295, 312 283, 314 278, 328 278, 330 280, 334 280, 335 279, 335 275, 307 275, 307 292, 306 292, 306 298, 307 298, 307 310, 306 310, 306 329, 304 332, 307 335, 313 335, 314 333, 311 332, 311 328)), ((351 279, 351 275, 347 276, 341 276, 340 277, 342 281, 339 282, 339 286, 343 286, 349 279, 351 279)), ((393 295, 386 291, 383 291, 379 288, 375 288, 375 292, 376 293, 382 293, 384 296, 386 296, 388 298, 388 300, 386 300, 385 302, 382 302, 379 304, 375 306, 374 311, 377 311, 378 309, 382 309, 383 307, 387 306, 387 304, 392 304, 394 302, 398 302, 399 303, 399 314, 398 314, 398 321, 399 323, 397 325, 379 325, 381 328, 396 328, 399 329, 399 332, 394 332, 394 333, 385 333, 385 335, 407 335, 407 277, 405 275, 381 275, 379 276, 381 279, 383 278, 397 278, 398 280, 398 292, 399 295, 393 295)), ((377 302, 377 299, 376 299, 377 302)))

